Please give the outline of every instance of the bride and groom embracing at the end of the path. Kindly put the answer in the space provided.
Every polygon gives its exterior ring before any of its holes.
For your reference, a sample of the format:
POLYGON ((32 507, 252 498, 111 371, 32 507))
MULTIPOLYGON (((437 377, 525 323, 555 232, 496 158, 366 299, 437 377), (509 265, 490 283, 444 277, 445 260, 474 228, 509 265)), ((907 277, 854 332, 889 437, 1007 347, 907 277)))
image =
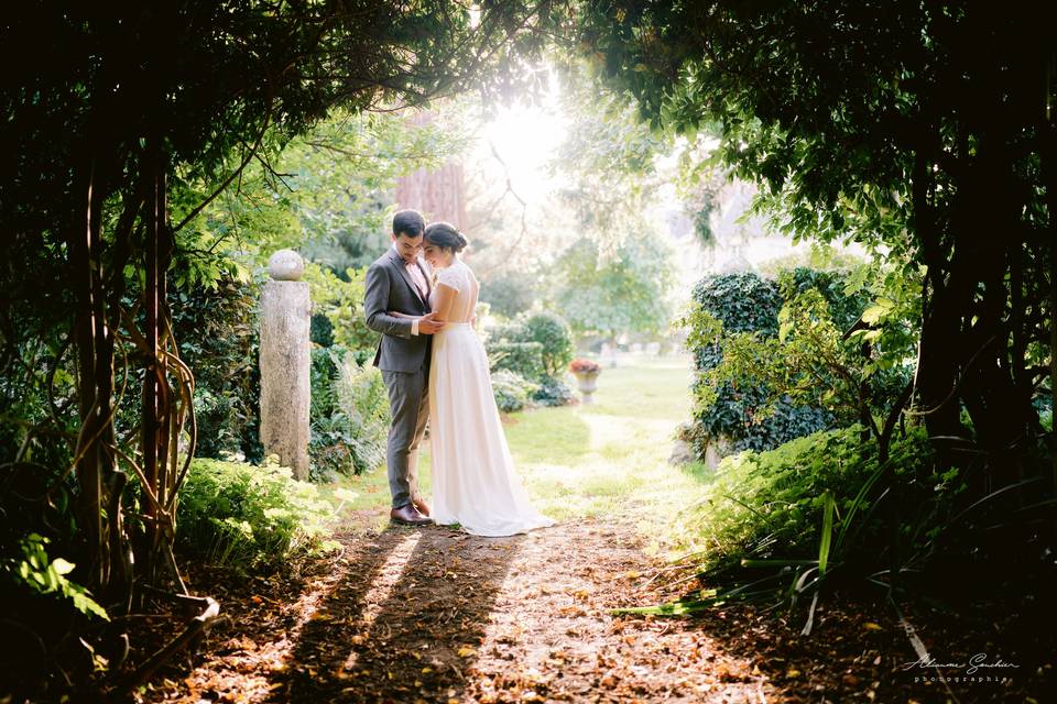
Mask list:
POLYGON ((473 329, 480 284, 459 257, 466 238, 416 210, 393 217, 393 246, 367 272, 363 314, 382 340, 392 426, 386 465, 390 517, 405 525, 458 524, 478 536, 554 525, 528 501, 492 395, 488 356, 473 329), (433 507, 418 492, 418 446, 429 422, 433 507))

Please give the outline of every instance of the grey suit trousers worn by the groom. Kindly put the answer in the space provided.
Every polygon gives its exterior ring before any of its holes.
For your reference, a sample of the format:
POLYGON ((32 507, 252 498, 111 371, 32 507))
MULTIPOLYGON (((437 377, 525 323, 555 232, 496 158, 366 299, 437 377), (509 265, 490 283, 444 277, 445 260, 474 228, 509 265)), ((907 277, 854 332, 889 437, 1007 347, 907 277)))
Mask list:
POLYGON ((418 446, 429 417, 429 367, 417 372, 382 371, 393 414, 385 465, 393 508, 418 497, 418 446))

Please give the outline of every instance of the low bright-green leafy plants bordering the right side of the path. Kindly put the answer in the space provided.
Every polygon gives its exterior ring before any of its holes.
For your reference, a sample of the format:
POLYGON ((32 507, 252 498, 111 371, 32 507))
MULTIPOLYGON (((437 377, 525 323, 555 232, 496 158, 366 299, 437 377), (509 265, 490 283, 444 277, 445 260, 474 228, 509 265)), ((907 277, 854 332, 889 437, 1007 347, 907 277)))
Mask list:
MULTIPOLYGON (((724 459, 700 501, 682 515, 679 534, 693 569, 716 588, 642 610, 690 613, 742 600, 796 605, 814 594, 806 635, 824 583, 886 588, 882 579, 891 575, 879 565, 915 573, 936 561, 958 563, 941 594, 978 569, 973 549, 951 540, 950 528, 966 516, 957 509, 967 488, 963 473, 939 470, 924 428, 894 439, 887 460, 876 442, 862 442, 861 432, 857 426, 824 431, 724 459), (885 488, 890 473, 905 486, 898 496, 885 488), (894 510, 902 513, 893 535, 884 517, 894 510)), ((971 518, 980 519, 988 518, 971 518)))

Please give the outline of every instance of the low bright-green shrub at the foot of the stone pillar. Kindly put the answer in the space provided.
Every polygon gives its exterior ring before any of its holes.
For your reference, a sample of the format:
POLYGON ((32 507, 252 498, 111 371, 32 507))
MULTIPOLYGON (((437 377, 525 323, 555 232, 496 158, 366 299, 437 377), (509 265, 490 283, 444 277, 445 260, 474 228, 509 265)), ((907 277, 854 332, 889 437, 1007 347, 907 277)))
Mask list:
POLYGON ((274 569, 328 549, 333 510, 287 468, 196 459, 177 502, 176 544, 214 564, 274 569))

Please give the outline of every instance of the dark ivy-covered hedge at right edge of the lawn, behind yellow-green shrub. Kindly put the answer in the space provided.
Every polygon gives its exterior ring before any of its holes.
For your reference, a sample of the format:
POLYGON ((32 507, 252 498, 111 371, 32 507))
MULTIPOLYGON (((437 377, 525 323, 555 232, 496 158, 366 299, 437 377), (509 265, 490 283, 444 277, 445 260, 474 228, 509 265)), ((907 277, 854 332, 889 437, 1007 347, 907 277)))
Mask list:
POLYGON ((689 341, 695 345, 690 351, 698 372, 695 385, 698 403, 695 427, 688 435, 698 457, 704 458, 706 447, 718 440, 722 440, 729 451, 760 451, 835 427, 837 419, 829 411, 795 404, 788 398, 769 405, 766 414, 760 413, 770 392, 762 382, 751 377, 724 383, 705 393, 702 375, 722 363, 723 339, 743 332, 777 338, 778 311, 797 294, 817 289, 829 304, 835 322, 844 329, 854 323, 865 307, 867 301, 861 297, 844 295, 840 273, 802 267, 788 272, 788 280, 789 285, 783 289, 774 280, 747 272, 708 276, 694 287, 695 308, 688 321, 689 341), (718 333, 706 330, 715 321, 720 324, 718 333))

